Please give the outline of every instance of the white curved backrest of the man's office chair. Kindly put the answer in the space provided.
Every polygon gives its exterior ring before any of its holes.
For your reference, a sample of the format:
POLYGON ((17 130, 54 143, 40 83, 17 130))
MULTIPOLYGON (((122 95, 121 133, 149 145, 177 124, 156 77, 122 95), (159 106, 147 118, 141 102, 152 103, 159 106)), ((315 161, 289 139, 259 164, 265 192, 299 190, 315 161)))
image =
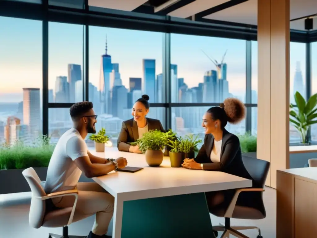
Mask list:
POLYGON ((33 228, 40 228, 45 215, 45 201, 38 197, 45 196, 46 193, 41 186, 41 180, 33 168, 24 169, 22 172, 28 182, 31 192, 31 206, 29 212, 29 224, 33 228))

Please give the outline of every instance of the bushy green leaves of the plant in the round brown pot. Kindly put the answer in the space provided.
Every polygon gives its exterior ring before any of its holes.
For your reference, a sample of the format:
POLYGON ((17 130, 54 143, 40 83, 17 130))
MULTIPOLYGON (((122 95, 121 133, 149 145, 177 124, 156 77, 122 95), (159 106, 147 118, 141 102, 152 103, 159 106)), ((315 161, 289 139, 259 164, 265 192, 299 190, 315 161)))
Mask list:
POLYGON ((168 132, 161 132, 159 130, 150 130, 142 135, 142 138, 136 141, 139 145, 139 150, 145 152, 147 149, 161 150, 164 149, 168 142, 168 132))

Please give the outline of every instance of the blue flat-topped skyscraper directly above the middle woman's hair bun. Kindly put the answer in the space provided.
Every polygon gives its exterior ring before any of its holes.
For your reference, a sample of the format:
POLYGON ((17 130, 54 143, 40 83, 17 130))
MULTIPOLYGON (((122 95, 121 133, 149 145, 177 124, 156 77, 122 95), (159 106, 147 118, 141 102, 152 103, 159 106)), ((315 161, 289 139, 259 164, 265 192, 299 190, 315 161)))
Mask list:
POLYGON ((150 97, 149 102, 155 102, 155 59, 143 59, 142 93, 150 97))

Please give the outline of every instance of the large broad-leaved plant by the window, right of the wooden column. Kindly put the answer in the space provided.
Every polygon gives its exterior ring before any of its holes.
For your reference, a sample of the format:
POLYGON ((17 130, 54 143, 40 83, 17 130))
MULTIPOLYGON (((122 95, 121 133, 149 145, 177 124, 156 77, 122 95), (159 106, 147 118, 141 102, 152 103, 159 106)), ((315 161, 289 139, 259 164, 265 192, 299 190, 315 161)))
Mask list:
POLYGON ((306 102, 303 96, 301 96, 301 94, 296 91, 294 98, 296 105, 293 106, 290 104, 289 106, 289 121, 294 125, 301 135, 301 143, 306 145, 309 144, 307 139, 307 131, 311 125, 317 123, 317 94, 311 96, 306 102))

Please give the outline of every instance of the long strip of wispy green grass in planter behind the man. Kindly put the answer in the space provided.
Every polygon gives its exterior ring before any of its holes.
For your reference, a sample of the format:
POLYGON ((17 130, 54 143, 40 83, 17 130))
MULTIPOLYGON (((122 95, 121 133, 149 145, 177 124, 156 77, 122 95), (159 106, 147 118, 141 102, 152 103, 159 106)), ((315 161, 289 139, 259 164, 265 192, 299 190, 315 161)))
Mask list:
POLYGON ((40 136, 31 145, 18 141, 13 146, 0 145, 0 169, 27 169, 29 167, 48 167, 55 145, 50 138, 40 136))

